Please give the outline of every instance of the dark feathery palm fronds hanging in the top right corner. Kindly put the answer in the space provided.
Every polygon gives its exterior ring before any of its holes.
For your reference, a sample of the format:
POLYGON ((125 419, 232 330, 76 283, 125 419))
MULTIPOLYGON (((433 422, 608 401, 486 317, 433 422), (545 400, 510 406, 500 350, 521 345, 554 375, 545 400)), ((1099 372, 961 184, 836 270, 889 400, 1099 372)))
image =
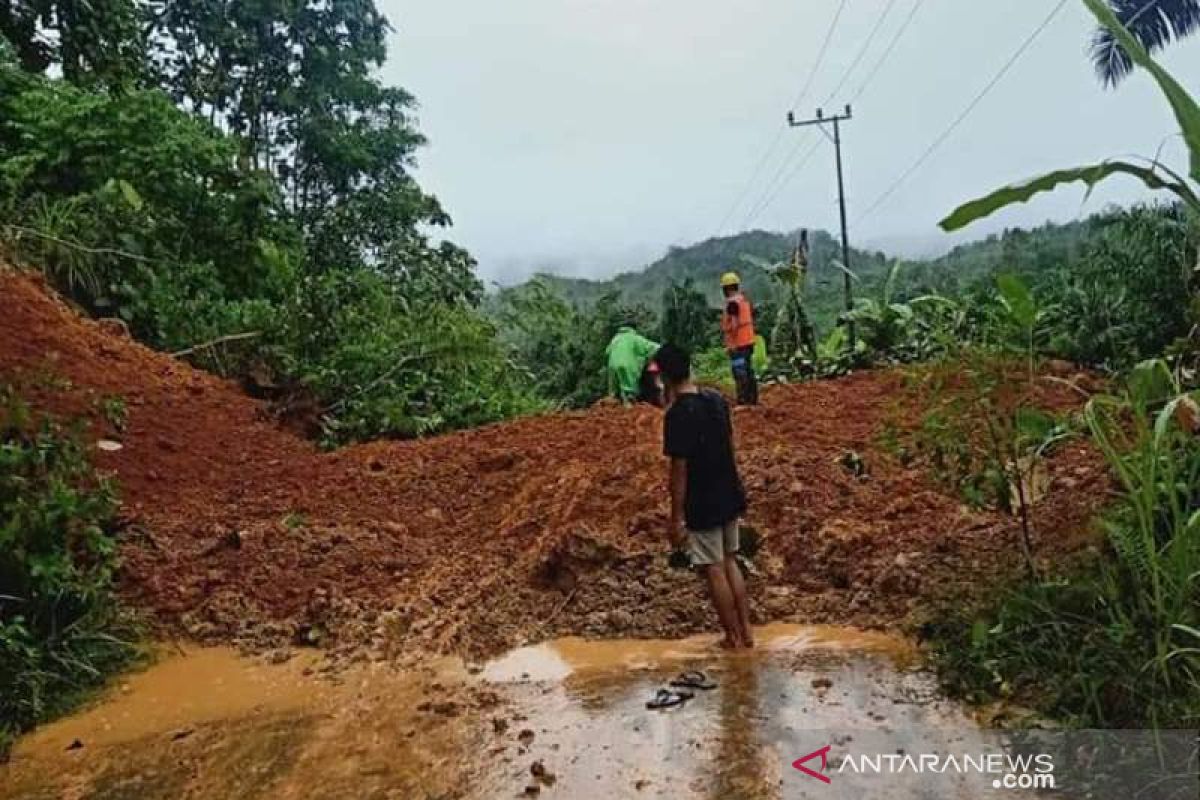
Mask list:
MULTIPOLYGON (((1150 53, 1190 36, 1200 28, 1200 0, 1108 0, 1117 19, 1150 53)), ((1133 71, 1133 59, 1106 26, 1092 37, 1092 61, 1108 86, 1133 71)))

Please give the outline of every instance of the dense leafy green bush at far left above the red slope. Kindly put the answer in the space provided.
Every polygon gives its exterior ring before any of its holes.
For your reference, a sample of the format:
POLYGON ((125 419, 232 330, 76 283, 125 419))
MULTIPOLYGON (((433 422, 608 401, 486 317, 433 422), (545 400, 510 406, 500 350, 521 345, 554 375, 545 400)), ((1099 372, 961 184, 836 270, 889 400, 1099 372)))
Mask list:
POLYGON ((193 306, 263 296, 295 260, 280 257, 299 234, 275 186, 238 156, 235 139, 161 91, 89 91, 0 60, 0 234, 60 290, 151 344, 170 332, 164 282, 180 294, 203 271, 193 306))

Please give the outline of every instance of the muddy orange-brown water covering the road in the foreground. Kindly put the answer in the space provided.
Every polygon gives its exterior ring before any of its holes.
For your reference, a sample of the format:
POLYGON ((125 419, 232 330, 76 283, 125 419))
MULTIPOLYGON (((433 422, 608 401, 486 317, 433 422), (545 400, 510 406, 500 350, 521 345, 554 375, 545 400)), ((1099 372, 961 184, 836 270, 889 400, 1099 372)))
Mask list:
POLYGON ((900 751, 914 732, 954 741, 973 723, 938 697, 904 639, 773 625, 758 631, 758 645, 732 654, 714 637, 563 639, 472 667, 442 660, 328 674, 311 654, 270 664, 191 649, 19 741, 0 768, 0 796, 988 794, 950 782, 932 793, 929 784, 901 789, 878 776, 864 784, 836 775, 824 784, 793 769, 797 758, 856 736, 887 736, 900 751), (674 709, 646 708, 692 668, 718 687, 674 709))

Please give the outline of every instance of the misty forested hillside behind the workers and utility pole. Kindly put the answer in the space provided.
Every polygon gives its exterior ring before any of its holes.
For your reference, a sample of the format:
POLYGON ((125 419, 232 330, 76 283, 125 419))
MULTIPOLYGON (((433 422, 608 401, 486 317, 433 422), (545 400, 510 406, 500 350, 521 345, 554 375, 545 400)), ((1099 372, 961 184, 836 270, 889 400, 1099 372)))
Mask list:
POLYGON ((1141 206, 1030 230, 1007 229, 935 259, 853 251, 853 311, 846 314, 841 248, 833 236, 810 233, 809 270, 792 287, 780 267, 790 263, 798 233, 756 230, 671 248, 643 270, 607 281, 539 275, 502 289, 487 307, 502 336, 526 354, 534 374, 557 372, 545 384, 546 391, 571 402, 589 402, 602 392, 600 345, 605 331, 620 319, 637 320, 642 330, 664 341, 709 350, 702 363, 712 365, 710 379, 720 379, 724 365, 715 314, 719 278, 727 270, 742 276, 758 308, 760 332, 776 356, 775 367, 785 373, 797 366, 802 373, 838 372, 880 357, 928 357, 941 350, 936 342, 947 337, 985 335, 992 326, 988 308, 995 305, 1000 276, 1018 278, 1037 296, 1045 324, 1039 336, 1056 355, 1118 366, 1136 355, 1151 355, 1186 332, 1183 306, 1147 293, 1159 281, 1177 285, 1182 276, 1171 265, 1186 260, 1193 239, 1182 209, 1141 206), (797 354, 797 343, 791 341, 793 290, 823 342, 816 351, 797 354), (910 301, 916 302, 910 306, 910 301), (1160 335, 1150 333, 1156 317, 1160 335), (550 319, 554 321, 547 324, 550 319), (856 321, 865 341, 857 354, 842 357, 846 319, 856 321), (532 339, 541 343, 530 345, 532 339), (581 339, 594 344, 589 349, 581 339), (547 347, 576 355, 546 359, 547 347))

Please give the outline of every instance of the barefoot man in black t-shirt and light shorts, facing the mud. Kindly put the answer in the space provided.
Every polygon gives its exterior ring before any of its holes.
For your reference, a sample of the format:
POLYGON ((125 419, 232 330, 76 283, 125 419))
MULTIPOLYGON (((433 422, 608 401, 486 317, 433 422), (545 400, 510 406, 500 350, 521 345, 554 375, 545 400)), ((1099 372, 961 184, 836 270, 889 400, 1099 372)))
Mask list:
POLYGON ((733 458, 730 405, 691 381, 689 356, 673 344, 659 348, 667 395, 662 449, 671 459, 671 528, 674 547, 686 548, 702 570, 725 630, 724 646, 754 646, 750 602, 738 566, 738 518, 746 498, 733 458))

